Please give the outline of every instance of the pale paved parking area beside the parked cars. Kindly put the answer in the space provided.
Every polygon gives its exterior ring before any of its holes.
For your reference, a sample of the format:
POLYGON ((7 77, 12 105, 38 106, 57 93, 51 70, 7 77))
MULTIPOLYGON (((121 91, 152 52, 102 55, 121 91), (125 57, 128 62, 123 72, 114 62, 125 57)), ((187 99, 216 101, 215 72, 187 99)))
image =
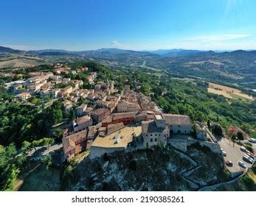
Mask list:
POLYGON ((243 155, 245 153, 241 151, 241 146, 236 143, 232 143, 232 141, 229 141, 227 138, 218 138, 217 141, 221 148, 226 152, 226 157, 224 157, 224 160, 231 160, 233 163, 232 167, 227 167, 229 168, 230 172, 237 172, 242 170, 242 168, 238 165, 238 161, 240 160, 245 163, 248 168, 252 167, 252 164, 243 160, 243 155))

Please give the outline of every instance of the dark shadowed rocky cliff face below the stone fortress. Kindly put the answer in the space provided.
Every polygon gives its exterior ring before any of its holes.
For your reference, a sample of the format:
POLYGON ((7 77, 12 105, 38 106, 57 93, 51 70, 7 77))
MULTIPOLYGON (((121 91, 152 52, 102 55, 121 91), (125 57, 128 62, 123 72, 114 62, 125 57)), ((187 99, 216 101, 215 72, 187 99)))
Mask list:
MULTIPOLYGON (((190 154, 198 149, 189 151, 190 154)), ((208 152, 207 152, 208 153, 208 152)), ((213 155, 209 151, 210 155, 213 155)), ((208 158, 208 154, 201 152, 201 159, 208 158), (203 154, 203 155, 201 155, 203 154)), ((193 158, 196 160, 196 157, 193 158)), ((215 159, 218 171, 222 170, 220 159, 215 159)), ((201 160, 201 163, 204 161, 201 160)), ((186 171, 193 170, 193 164, 184 155, 170 147, 153 150, 140 150, 132 153, 117 152, 90 160, 86 158, 66 175, 66 191, 193 191, 193 179, 201 179, 202 170, 196 168, 188 177, 186 171), (198 172, 199 171, 199 172, 198 172), (191 180, 186 180, 190 178, 191 180), (192 185, 191 185, 192 184, 192 185)), ((209 172, 208 172, 209 173, 209 172)), ((206 173, 207 174, 207 173, 206 173)), ((205 182, 219 180, 218 172, 208 175, 205 182)))

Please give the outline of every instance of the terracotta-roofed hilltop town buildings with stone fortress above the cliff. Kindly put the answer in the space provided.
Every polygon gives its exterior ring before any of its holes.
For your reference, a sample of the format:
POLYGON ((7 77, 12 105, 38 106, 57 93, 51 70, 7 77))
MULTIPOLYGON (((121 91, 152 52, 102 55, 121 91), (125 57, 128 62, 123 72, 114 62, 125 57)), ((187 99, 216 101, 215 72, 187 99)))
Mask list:
MULTIPOLYGON (((187 141, 200 141, 210 149, 221 153, 220 146, 212 141, 204 125, 196 123, 196 135, 192 135, 193 122, 189 116, 163 113, 151 98, 131 90, 126 82, 119 93, 114 82, 97 81, 97 72, 89 72, 87 80, 91 89, 83 89, 83 81, 62 77, 70 68, 56 64, 54 73, 35 71, 28 79, 6 83, 15 93, 13 102, 27 102, 32 96, 49 99, 44 107, 60 100, 66 111, 75 106, 76 118, 63 129, 63 154, 72 160, 76 154, 90 150, 90 157, 100 157, 118 150, 136 150, 170 144, 184 152, 187 141), (58 87, 61 85, 61 88, 58 87), (78 99, 86 103, 77 104, 78 99)), ((72 74, 88 71, 77 68, 72 74)))

